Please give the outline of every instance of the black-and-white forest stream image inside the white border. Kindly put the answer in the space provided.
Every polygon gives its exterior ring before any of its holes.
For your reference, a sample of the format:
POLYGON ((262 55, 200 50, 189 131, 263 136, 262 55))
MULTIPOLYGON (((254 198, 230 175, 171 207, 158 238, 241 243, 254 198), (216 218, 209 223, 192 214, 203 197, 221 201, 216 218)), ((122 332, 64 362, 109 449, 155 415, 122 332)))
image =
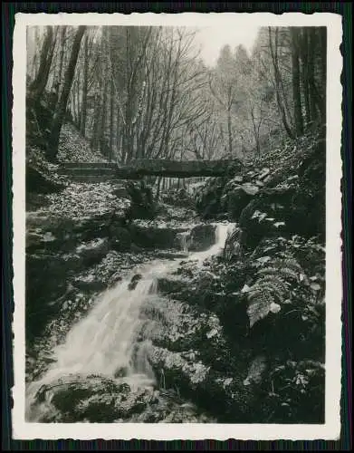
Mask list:
POLYGON ((26 25, 25 423, 325 423, 328 29, 240 21, 26 25))

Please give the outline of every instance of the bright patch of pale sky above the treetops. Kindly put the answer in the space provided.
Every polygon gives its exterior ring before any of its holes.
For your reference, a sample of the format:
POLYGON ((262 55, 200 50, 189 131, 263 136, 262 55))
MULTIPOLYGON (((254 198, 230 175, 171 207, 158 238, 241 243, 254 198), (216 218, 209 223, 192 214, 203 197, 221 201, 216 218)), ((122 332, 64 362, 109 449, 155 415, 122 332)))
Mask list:
POLYGON ((249 53, 252 51, 259 27, 247 26, 244 28, 237 25, 233 27, 225 25, 225 28, 217 26, 198 29, 195 42, 200 45, 200 56, 208 66, 215 65, 220 49, 225 44, 229 44, 232 50, 237 45, 243 44, 249 53))

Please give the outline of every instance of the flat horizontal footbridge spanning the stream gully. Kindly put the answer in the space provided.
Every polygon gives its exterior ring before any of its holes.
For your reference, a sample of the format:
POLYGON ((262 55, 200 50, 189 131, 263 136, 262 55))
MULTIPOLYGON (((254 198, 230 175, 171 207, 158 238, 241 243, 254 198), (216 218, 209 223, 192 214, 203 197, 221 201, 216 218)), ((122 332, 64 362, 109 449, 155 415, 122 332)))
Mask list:
POLYGON ((127 166, 116 163, 62 163, 59 173, 75 181, 104 182, 113 179, 225 177, 242 168, 239 160, 135 159, 127 166))

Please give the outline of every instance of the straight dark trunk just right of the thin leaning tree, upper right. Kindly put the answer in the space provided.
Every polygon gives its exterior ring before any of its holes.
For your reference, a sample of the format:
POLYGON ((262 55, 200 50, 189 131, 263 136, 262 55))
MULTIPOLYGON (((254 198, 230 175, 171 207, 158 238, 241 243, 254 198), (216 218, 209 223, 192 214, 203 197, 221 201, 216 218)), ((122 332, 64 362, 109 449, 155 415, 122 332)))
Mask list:
POLYGON ((291 28, 292 34, 292 101, 293 116, 295 120, 296 135, 303 134, 303 120, 301 111, 301 90, 300 90, 300 64, 299 64, 299 40, 298 31, 291 28))

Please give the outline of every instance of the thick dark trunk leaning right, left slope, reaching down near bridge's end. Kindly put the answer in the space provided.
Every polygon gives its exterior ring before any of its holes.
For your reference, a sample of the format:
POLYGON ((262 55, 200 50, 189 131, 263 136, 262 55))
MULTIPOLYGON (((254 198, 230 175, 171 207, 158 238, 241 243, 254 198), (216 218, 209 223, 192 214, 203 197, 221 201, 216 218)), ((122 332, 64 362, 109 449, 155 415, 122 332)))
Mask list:
POLYGON ((58 152, 59 136, 62 130, 62 121, 64 120, 65 117, 66 105, 68 102, 69 93, 72 88, 72 79, 75 73, 75 67, 78 60, 81 39, 83 34, 85 33, 85 30, 86 30, 85 25, 79 26, 78 31, 75 34, 74 42, 72 44, 72 54, 70 57, 69 65, 65 72, 62 94, 60 100, 58 101, 58 107, 53 117, 53 127, 48 149, 48 155, 51 159, 55 159, 56 154, 58 152))

